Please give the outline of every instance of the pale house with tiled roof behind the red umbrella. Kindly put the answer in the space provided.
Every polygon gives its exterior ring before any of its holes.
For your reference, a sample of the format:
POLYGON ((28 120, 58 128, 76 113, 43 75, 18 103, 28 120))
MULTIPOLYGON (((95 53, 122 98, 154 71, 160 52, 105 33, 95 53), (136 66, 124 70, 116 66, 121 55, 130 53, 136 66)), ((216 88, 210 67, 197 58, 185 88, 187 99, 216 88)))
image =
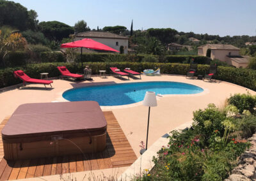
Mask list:
POLYGON ((124 54, 127 54, 128 52, 128 38, 125 36, 104 31, 86 31, 83 33, 77 33, 74 41, 82 40, 83 38, 91 38, 92 40, 103 43, 104 45, 118 51, 120 51, 120 47, 123 46, 124 54))

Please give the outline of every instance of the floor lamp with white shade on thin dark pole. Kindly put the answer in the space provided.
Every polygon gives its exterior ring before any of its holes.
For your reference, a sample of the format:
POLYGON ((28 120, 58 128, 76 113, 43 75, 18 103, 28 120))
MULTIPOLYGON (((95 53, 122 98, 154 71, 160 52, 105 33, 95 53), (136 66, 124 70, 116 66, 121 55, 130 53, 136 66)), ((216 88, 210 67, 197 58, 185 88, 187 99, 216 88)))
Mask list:
MULTIPOLYGON (((150 107, 157 106, 156 101, 156 93, 152 91, 147 91, 145 94, 145 98, 143 100, 143 105, 148 106, 148 126, 149 126, 149 115, 150 115, 150 107)), ((142 155, 148 148, 148 128, 147 128, 147 141, 146 148, 140 150, 140 154, 142 155)))

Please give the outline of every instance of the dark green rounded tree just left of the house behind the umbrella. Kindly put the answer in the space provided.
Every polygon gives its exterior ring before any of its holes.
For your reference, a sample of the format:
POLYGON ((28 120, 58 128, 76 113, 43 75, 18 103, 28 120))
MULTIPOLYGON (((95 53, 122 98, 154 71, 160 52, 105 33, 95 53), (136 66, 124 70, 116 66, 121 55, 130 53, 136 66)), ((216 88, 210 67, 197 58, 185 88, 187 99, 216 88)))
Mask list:
POLYGON ((58 21, 40 22, 38 29, 44 33, 49 40, 61 41, 74 33, 74 29, 67 24, 58 21))

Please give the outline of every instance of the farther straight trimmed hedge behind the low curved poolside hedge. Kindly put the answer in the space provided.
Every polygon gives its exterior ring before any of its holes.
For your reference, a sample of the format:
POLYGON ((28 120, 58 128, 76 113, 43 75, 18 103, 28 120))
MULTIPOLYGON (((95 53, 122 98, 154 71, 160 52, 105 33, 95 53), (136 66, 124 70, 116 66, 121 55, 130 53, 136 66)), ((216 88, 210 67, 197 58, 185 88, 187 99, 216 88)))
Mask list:
MULTIPOLYGON (((134 54, 83 54, 83 62, 141 62, 144 57, 154 57, 156 62, 189 63, 191 59, 198 64, 210 64, 208 57, 197 55, 134 55, 134 54)), ((5 59, 7 67, 24 66, 28 63, 66 62, 61 52, 11 52, 5 59)), ((76 62, 81 62, 81 55, 76 54, 76 62)))

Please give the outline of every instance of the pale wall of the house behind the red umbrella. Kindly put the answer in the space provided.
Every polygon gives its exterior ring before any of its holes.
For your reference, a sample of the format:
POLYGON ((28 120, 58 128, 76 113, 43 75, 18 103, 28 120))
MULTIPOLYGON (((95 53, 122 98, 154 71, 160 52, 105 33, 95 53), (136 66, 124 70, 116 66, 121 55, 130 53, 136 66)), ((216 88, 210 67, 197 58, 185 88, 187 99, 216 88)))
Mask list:
MULTIPOLYGON (((74 38, 74 41, 81 40, 83 38, 74 38)), ((124 46, 124 54, 128 53, 128 40, 127 39, 114 39, 114 38, 91 38, 92 40, 98 41, 108 47, 114 48, 120 51, 120 47, 124 46), (116 45, 118 42, 118 45, 116 45)))

